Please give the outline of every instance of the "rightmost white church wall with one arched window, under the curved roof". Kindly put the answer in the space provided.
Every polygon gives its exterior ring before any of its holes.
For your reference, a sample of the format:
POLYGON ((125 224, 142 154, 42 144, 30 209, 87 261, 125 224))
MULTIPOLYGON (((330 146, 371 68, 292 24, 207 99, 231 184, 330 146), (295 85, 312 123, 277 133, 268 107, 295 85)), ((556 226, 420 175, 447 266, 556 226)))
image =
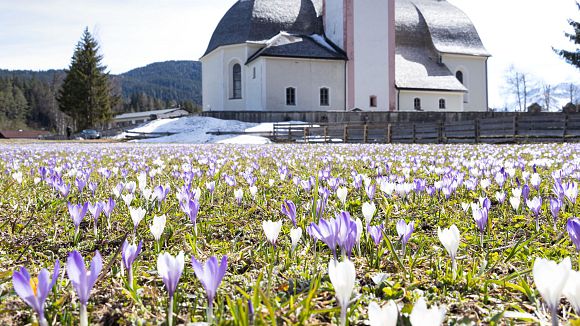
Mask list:
POLYGON ((487 111, 487 57, 443 54, 442 60, 453 74, 463 72, 463 84, 468 89, 464 110, 487 111))

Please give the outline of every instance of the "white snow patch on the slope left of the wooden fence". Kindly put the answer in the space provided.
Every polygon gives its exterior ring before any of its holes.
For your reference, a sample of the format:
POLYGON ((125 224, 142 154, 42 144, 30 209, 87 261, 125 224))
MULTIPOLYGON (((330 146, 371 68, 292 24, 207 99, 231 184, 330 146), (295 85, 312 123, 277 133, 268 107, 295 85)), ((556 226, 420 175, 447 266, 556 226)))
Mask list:
POLYGON ((123 133, 117 139, 124 139, 131 132, 136 133, 174 133, 174 135, 132 140, 146 143, 181 143, 181 144, 268 144, 266 137, 254 135, 214 135, 208 132, 272 132, 273 123, 249 123, 236 120, 220 120, 210 117, 183 117, 159 119, 123 133))

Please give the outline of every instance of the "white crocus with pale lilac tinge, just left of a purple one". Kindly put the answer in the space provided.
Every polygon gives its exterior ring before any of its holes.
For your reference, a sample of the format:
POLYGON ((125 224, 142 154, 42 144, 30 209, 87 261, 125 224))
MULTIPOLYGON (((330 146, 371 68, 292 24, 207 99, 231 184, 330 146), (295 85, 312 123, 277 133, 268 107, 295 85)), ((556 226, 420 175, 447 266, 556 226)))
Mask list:
POLYGON ((183 251, 175 257, 168 253, 159 254, 157 256, 157 273, 163 279, 165 288, 169 293, 169 309, 167 312, 167 325, 171 326, 173 324, 173 294, 177 290, 177 284, 183 273, 183 267, 185 266, 185 257, 183 251))

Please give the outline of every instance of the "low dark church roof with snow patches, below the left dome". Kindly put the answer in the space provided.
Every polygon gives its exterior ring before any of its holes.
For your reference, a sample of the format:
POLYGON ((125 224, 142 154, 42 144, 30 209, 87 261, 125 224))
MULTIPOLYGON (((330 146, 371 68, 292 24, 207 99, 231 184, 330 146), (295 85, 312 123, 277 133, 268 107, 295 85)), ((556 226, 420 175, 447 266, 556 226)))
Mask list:
POLYGON ((247 63, 258 57, 290 57, 328 60, 346 60, 346 55, 322 35, 291 35, 281 32, 264 43, 264 47, 252 55, 247 63))

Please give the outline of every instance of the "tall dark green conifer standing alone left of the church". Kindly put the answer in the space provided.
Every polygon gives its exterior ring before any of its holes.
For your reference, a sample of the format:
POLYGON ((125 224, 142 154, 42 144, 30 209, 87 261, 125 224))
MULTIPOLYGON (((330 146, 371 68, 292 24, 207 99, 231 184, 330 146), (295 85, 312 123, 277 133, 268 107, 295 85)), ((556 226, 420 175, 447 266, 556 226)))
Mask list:
POLYGON ((110 121, 112 108, 119 101, 112 95, 102 59, 97 41, 85 28, 57 98, 60 110, 73 119, 76 130, 110 121))

